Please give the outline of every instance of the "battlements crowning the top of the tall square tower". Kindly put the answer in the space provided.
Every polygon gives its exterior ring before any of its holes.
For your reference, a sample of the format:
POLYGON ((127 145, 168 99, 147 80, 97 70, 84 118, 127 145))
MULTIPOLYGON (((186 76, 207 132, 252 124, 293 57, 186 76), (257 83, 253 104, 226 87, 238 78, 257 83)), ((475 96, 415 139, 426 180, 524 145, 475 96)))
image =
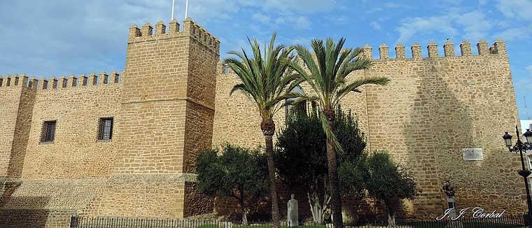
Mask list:
POLYGON ((157 22, 157 24, 155 24, 155 33, 153 33, 153 26, 149 22, 144 24, 141 28, 137 27, 137 24, 133 24, 130 27, 128 43, 141 43, 188 36, 194 38, 196 41, 202 43, 213 51, 218 52, 220 50, 220 41, 218 38, 191 20, 190 17, 183 21, 183 31, 180 31, 179 29, 180 24, 175 19, 168 24, 168 31, 164 22, 157 22))

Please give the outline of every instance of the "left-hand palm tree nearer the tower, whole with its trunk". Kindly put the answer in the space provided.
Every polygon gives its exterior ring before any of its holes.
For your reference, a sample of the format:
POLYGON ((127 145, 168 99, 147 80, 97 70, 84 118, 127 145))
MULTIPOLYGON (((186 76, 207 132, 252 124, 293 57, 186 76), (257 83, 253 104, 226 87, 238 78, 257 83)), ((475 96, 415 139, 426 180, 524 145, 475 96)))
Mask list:
POLYGON ((273 159, 273 135, 275 132, 275 123, 273 117, 277 111, 283 107, 286 97, 286 91, 289 85, 296 78, 296 75, 290 73, 288 64, 293 62, 294 56, 290 54, 292 48, 286 48, 283 45, 274 45, 276 34, 272 35, 269 45, 265 44, 264 53, 260 51, 260 45, 253 38, 253 42, 248 38, 251 45, 253 57, 248 57, 244 48, 241 52, 228 52, 230 57, 224 60, 228 67, 235 71, 240 84, 232 88, 233 92, 242 92, 251 99, 262 117, 260 129, 265 138, 269 191, 272 198, 272 225, 279 227, 279 206, 277 205, 277 193, 275 189, 275 164, 273 159), (288 71, 287 71, 288 69, 288 71))

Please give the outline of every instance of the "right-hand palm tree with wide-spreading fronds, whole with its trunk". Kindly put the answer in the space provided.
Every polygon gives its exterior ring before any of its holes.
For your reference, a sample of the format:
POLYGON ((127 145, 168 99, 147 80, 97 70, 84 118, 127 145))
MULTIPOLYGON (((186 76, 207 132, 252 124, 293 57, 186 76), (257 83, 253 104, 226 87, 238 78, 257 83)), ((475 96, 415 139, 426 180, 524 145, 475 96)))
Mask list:
MULTIPOLYGON (((368 69, 372 65, 371 59, 360 57, 360 48, 342 50, 345 39, 338 43, 328 38, 325 46, 323 40, 311 41, 311 48, 316 54, 314 59, 309 49, 302 45, 295 45, 297 55, 303 60, 304 66, 295 62, 288 62, 290 68, 300 77, 297 82, 304 81, 310 85, 314 94, 299 94, 293 105, 310 101, 321 108, 320 119, 323 131, 327 137, 328 178, 332 203, 332 220, 335 228, 343 227, 342 202, 338 190, 338 174, 336 152, 342 151, 342 146, 333 133, 332 122, 335 120, 335 110, 340 101, 350 92, 360 92, 362 85, 386 85, 390 79, 385 77, 357 78, 348 82, 349 73, 360 69, 368 69)), ((292 94, 295 95, 295 94, 292 94)), ((295 96, 292 96, 295 97, 295 96)))

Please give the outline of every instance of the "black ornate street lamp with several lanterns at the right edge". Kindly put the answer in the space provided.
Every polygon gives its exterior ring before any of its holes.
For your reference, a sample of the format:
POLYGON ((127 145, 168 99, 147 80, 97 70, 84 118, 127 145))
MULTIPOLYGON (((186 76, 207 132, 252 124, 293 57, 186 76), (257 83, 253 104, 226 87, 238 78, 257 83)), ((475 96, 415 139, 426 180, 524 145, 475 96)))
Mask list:
POLYGON ((512 136, 508 134, 508 131, 505 131, 505 134, 503 136, 504 142, 506 143, 506 147, 510 152, 519 152, 521 154, 521 168, 522 170, 517 172, 520 176, 524 178, 524 185, 526 188, 526 205, 528 206, 528 212, 526 213, 526 223, 529 227, 532 228, 532 222, 531 222, 531 213, 532 213, 532 200, 530 197, 530 192, 528 191, 528 176, 530 175, 531 171, 528 169, 525 169, 524 167, 524 159, 523 159, 523 151, 526 150, 532 150, 532 132, 530 129, 526 129, 526 132, 523 134, 526 143, 521 142, 519 139, 519 130, 517 129, 517 126, 515 126, 515 134, 517 135, 517 143, 515 145, 512 145, 512 136))

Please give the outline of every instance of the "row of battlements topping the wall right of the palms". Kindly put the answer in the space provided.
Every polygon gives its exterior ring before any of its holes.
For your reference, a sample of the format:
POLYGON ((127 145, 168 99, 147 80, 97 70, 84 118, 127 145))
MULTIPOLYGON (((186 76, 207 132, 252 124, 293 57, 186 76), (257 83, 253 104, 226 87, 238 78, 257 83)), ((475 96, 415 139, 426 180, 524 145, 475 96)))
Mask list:
MULTIPOLYGON (((363 57, 375 59, 372 55, 372 47, 370 45, 364 45, 363 48, 363 57)), ((410 50, 412 52, 412 58, 406 58, 405 55, 405 45, 398 43, 395 45, 395 59, 423 59, 421 52, 421 45, 419 43, 414 43, 410 50)), ((437 57, 455 57, 454 55, 454 43, 447 40, 443 45, 443 56, 438 54, 437 44, 435 42, 430 42, 427 45, 428 58, 437 58, 437 57)), ((485 40, 480 40, 477 43, 478 56, 489 56, 489 55, 506 55, 506 43, 503 40, 498 39, 493 43, 490 48, 488 48, 488 43, 485 40)), ((462 41, 460 43, 460 55, 458 56, 472 56, 471 52, 471 43, 468 41, 462 41)), ((392 59, 388 54, 388 45, 382 43, 379 46, 379 59, 392 59)))

